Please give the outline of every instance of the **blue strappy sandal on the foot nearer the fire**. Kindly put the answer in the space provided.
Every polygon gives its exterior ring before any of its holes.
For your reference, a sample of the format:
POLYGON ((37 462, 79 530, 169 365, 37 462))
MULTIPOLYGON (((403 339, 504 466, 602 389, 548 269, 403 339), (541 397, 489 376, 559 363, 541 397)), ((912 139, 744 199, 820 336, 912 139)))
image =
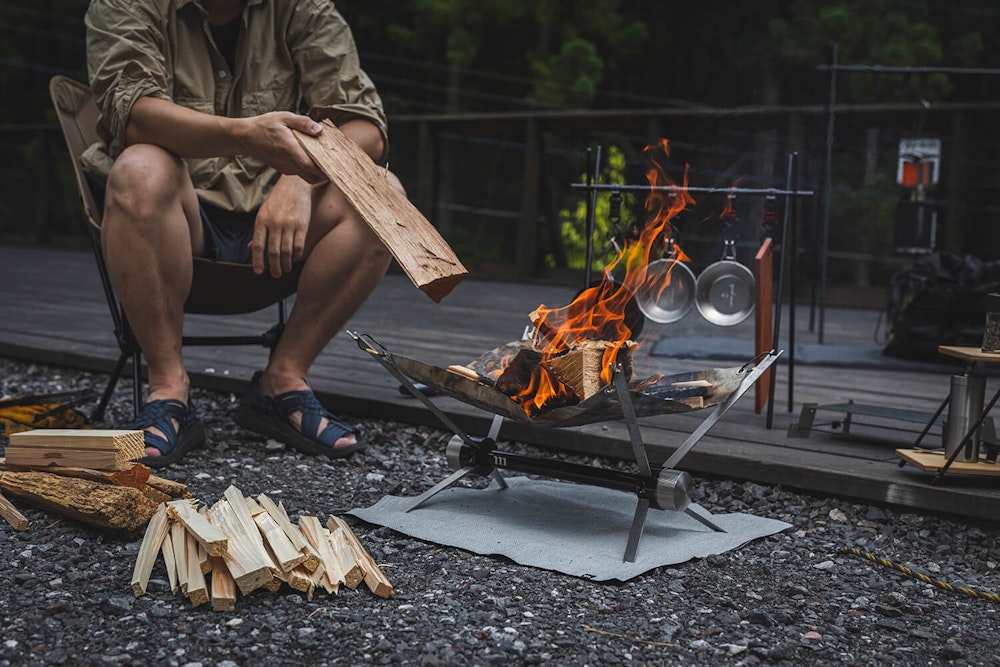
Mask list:
POLYGON ((365 448, 359 442, 334 446, 337 440, 356 430, 353 425, 330 414, 311 390, 286 391, 277 396, 268 396, 260 388, 260 376, 261 371, 254 373, 250 390, 240 399, 240 405, 233 415, 237 424, 306 454, 343 458, 365 448), (296 412, 302 413, 301 432, 288 421, 296 412), (329 423, 320 431, 319 426, 324 418, 329 423))

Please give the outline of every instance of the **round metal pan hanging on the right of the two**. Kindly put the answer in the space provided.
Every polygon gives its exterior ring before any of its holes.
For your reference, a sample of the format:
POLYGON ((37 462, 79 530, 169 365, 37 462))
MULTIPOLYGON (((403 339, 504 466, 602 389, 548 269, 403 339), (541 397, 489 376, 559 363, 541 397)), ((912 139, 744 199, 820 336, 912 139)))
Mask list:
POLYGON ((753 313, 753 272, 736 261, 736 243, 725 242, 722 259, 698 275, 695 305, 706 320, 720 327, 739 324, 753 313))

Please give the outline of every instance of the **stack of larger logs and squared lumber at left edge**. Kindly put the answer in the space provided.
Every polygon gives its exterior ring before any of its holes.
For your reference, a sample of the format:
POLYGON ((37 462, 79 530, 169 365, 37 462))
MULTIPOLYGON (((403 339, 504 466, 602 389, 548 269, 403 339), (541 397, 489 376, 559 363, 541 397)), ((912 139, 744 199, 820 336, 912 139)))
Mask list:
MULTIPOLYGON (((133 462, 142 431, 35 429, 12 433, 0 458, 0 493, 97 528, 141 530, 157 507, 187 497, 184 484, 133 462)), ((4 495, 0 516, 17 530, 28 520, 4 495)))

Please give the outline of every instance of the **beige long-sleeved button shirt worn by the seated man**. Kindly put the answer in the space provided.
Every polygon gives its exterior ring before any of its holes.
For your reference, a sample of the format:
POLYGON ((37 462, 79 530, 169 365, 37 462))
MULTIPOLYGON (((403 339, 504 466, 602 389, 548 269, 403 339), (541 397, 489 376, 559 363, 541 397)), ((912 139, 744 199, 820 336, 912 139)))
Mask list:
MULTIPOLYGON (((122 151, 132 105, 144 95, 232 118, 304 103, 315 120, 365 118, 387 137, 382 102, 331 0, 248 0, 235 72, 206 17, 199 0, 92 0, 87 67, 104 146, 88 153, 122 151)), ((247 156, 186 162, 202 200, 236 211, 260 206, 280 175, 247 156)))

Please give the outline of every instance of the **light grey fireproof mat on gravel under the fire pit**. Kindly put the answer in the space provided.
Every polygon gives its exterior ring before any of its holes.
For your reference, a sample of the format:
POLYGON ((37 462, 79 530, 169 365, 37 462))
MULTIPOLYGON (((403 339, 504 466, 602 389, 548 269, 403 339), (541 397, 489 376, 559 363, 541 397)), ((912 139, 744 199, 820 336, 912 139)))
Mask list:
MULTIPOLYGON (((412 498, 386 496, 351 514, 428 542, 585 579, 627 581, 661 565, 721 554, 791 524, 715 514, 719 533, 683 512, 650 509, 634 563, 623 561, 636 497, 569 482, 507 477, 507 489, 451 488, 410 512, 412 498)), ((703 512, 704 513, 704 512, 703 512)))

